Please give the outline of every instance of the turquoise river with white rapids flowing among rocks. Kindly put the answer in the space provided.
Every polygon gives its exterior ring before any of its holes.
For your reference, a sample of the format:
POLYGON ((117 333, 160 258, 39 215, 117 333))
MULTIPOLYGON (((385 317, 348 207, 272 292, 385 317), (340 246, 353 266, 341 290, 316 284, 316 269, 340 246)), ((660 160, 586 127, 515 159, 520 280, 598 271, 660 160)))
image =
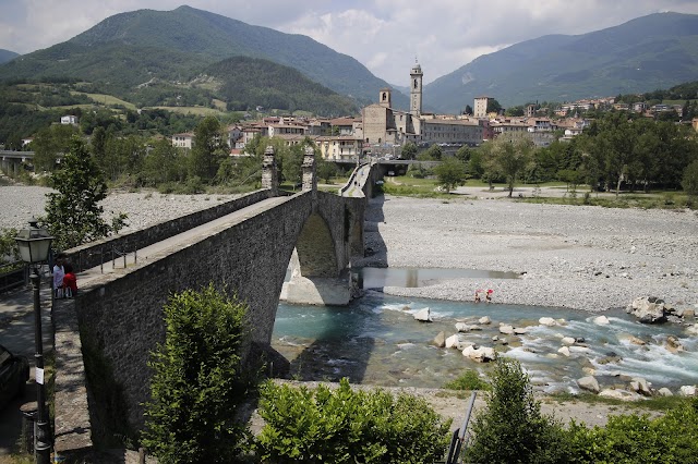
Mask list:
POLYGON ((384 387, 440 388, 465 369, 484 374, 489 366, 455 349, 438 349, 433 339, 440 331, 446 337, 456 333, 457 321, 477 323, 480 317, 489 316, 492 323, 481 326, 481 331, 461 333, 460 339, 495 346, 519 359, 539 390, 576 392, 576 379, 590 369, 602 387, 623 388, 628 379, 621 376, 643 377, 653 388, 673 391, 698 382, 698 338, 687 337, 674 323, 641 325, 621 310, 604 315, 611 320, 609 326, 593 323, 598 314, 565 308, 400 298, 369 292, 348 307, 280 304, 272 344, 291 361, 294 378, 348 377, 352 382, 384 387), (413 319, 424 307, 431 310, 431 323, 413 319), (566 325, 540 326, 538 320, 543 316, 565 319, 566 325), (503 335, 500 322, 528 327, 528 332, 503 335), (506 338, 508 344, 493 341, 495 335, 506 338), (669 335, 677 337, 686 351, 667 351, 669 335), (585 342, 566 357, 557 353, 562 337, 583 338, 585 342), (639 340, 646 344, 636 344, 639 340))

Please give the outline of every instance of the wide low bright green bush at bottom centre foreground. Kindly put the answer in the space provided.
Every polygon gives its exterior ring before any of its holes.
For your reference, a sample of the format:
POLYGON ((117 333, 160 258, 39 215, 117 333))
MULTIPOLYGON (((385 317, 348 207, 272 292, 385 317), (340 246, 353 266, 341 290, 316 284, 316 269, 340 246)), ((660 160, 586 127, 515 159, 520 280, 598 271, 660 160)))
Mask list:
POLYGON ((266 463, 432 463, 443 457, 450 420, 422 400, 382 390, 267 382, 257 449, 266 463))

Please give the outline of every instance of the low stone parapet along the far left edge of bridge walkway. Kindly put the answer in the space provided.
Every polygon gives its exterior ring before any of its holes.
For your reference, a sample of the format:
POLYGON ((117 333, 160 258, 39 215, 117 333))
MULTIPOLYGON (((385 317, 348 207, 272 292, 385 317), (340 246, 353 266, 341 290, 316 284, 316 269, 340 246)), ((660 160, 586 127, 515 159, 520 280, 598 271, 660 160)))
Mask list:
POLYGON ((153 227, 137 231, 112 235, 103 240, 91 242, 67 251, 70 260, 79 271, 99 266, 111 260, 111 249, 121 253, 132 253, 197 225, 218 219, 222 216, 245 208, 272 196, 272 191, 261 190, 240 198, 226 202, 210 208, 202 209, 169 221, 163 221, 153 227))

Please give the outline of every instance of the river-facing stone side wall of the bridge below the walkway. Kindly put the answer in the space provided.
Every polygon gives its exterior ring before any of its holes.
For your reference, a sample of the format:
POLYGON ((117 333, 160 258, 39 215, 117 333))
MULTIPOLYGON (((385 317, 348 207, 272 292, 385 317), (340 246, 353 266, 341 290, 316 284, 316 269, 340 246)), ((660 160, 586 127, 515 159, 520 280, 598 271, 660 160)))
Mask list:
MULTIPOLYGON (((221 224, 176 249, 151 256, 147 264, 123 274, 104 274, 81 289, 73 302, 83 340, 108 364, 113 376, 109 381, 122 392, 122 410, 131 428, 139 429, 144 423, 142 404, 149 395, 151 377, 146 363, 164 340, 163 306, 169 295, 209 282, 237 294, 250 306, 253 341, 268 346, 286 269, 313 211, 327 224, 337 268, 347 266, 351 249, 358 247, 351 241, 358 240, 357 228, 362 228, 364 200, 323 192, 316 195, 315 202, 312 192, 287 197, 255 216, 221 224)), ((86 368, 89 371, 93 366, 86 368)), ((93 393, 97 407, 113 400, 93 393)), ((63 413, 57 411, 57 416, 63 413)), ((91 419, 96 420, 98 413, 91 408, 91 419)))

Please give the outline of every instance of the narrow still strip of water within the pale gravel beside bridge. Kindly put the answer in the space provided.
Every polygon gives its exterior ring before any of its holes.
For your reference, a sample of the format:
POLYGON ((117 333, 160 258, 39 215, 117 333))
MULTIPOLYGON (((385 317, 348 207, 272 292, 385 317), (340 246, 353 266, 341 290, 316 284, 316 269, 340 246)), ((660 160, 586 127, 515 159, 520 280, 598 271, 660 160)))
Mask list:
POLYGON ((418 288, 448 279, 518 279, 520 276, 518 272, 442 268, 358 268, 353 273, 362 289, 418 288))

